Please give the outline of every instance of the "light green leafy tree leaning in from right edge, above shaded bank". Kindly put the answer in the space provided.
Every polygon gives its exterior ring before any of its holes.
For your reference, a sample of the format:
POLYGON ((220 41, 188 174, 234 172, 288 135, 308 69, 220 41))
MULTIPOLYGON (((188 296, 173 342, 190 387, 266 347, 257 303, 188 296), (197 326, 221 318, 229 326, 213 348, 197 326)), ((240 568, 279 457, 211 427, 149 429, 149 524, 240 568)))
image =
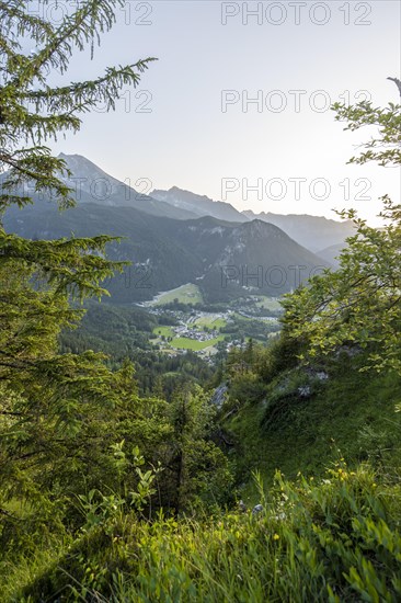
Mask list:
MULTIPOLYGON (((348 123, 346 129, 379 127, 379 136, 364 145, 368 150, 351 162, 401 163, 401 105, 379 110, 370 103, 336 104, 334 110, 337 120, 348 123)), ((356 234, 347 239, 339 270, 314 276, 284 302, 283 322, 289 337, 303 339, 307 359, 347 345, 365 352, 363 371, 401 374, 401 206, 387 195, 382 202, 382 229, 369 227, 353 209, 340 212, 353 220, 356 234)))

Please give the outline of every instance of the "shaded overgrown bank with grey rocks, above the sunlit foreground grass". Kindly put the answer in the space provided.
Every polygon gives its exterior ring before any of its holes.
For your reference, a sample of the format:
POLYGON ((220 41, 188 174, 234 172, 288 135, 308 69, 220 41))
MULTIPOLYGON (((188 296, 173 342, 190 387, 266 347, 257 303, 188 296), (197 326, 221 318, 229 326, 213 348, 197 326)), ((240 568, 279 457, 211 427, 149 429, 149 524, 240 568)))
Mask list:
POLYGON ((255 368, 240 377, 252 395, 236 399, 233 388, 221 410, 232 444, 242 497, 254 499, 250 473, 257 467, 266 483, 279 469, 289 479, 299 470, 314 477, 346 454, 351 465, 368 460, 379 471, 401 466, 401 382, 396 374, 360 373, 359 359, 347 356, 317 369, 299 365, 264 383, 255 368), (232 400, 232 397, 234 400, 232 400), (237 406, 236 406, 237 405, 237 406))

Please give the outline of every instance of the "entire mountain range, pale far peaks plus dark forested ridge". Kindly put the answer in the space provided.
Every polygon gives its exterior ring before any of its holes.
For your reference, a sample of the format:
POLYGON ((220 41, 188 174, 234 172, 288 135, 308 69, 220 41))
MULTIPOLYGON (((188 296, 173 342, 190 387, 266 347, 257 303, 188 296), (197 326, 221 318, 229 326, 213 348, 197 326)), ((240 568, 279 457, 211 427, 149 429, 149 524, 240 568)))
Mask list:
MULTIPOLYGON (((243 215, 228 203, 176 187, 140 195, 83 157, 61 157, 73 173, 67 183, 76 190, 77 206, 59 213, 55 203, 34 195, 33 205, 5 213, 4 227, 27 238, 53 239, 71 232, 77 237, 125 237, 119 244, 108 246, 112 259, 133 262, 123 276, 107 283, 112 302, 150 299, 190 282, 199 286, 209 303, 249 293, 279 295, 330 265, 330 260, 299 244, 284 227, 257 216, 253 219, 254 215, 243 215)), ((299 224, 310 225, 308 236, 314 247, 322 241, 326 244, 321 248, 331 243, 321 232, 325 218, 263 216, 282 219, 289 230, 300 218, 299 224)), ((335 242, 342 244, 344 229, 337 225, 343 225, 325 223, 328 232, 337 232, 335 242)), ((303 238, 307 232, 305 226, 303 238)))

